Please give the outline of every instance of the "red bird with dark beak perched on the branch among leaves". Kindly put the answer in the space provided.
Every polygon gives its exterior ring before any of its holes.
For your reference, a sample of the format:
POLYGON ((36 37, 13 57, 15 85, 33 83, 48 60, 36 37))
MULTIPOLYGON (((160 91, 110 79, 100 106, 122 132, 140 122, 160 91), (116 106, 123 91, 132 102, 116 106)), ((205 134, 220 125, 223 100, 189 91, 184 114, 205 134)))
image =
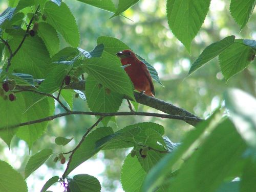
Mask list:
POLYGON ((123 50, 116 54, 120 57, 124 70, 133 82, 134 88, 146 95, 155 97, 155 88, 146 65, 131 50, 123 50))

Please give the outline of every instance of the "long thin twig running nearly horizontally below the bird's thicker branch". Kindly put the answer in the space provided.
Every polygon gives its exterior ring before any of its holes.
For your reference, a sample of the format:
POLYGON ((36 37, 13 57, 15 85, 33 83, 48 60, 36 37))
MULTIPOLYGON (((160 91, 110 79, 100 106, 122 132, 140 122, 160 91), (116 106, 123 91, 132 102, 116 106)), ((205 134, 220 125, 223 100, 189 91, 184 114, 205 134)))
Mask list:
MULTIPOLYGON (((22 127, 25 125, 32 125, 36 123, 42 123, 46 121, 52 121, 55 118, 59 118, 61 116, 67 115, 99 115, 99 116, 128 116, 128 115, 138 115, 138 116, 153 116, 153 117, 160 117, 160 118, 169 118, 169 119, 178 119, 182 121, 194 121, 194 122, 201 122, 203 119, 197 117, 190 117, 190 116, 180 116, 180 115, 169 115, 169 114, 161 114, 161 113, 148 113, 148 112, 115 112, 115 113, 102 113, 102 112, 91 112, 91 111, 68 111, 66 113, 59 113, 56 115, 48 116, 45 118, 36 119, 34 121, 20 123, 17 125, 9 126, 8 129, 22 127)), ((6 127, 1 127, 0 129, 5 129, 6 127)))

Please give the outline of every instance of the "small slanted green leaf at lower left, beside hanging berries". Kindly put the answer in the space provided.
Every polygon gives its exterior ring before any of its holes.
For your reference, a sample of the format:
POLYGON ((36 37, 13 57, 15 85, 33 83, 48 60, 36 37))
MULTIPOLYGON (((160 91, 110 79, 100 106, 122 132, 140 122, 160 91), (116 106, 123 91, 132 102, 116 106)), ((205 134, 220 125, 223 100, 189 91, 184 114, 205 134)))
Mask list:
POLYGON ((43 149, 38 153, 32 155, 25 167, 25 178, 36 171, 45 161, 52 155, 51 149, 43 149))

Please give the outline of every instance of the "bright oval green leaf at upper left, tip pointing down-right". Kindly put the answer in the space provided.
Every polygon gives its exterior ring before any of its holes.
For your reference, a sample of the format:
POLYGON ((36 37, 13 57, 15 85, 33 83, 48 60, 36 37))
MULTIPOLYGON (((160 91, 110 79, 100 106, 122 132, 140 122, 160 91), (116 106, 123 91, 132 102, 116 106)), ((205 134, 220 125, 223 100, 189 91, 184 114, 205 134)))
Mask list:
POLYGON ((76 20, 69 7, 62 2, 60 7, 52 2, 47 2, 44 9, 47 22, 52 25, 63 38, 73 47, 80 43, 80 35, 76 20))

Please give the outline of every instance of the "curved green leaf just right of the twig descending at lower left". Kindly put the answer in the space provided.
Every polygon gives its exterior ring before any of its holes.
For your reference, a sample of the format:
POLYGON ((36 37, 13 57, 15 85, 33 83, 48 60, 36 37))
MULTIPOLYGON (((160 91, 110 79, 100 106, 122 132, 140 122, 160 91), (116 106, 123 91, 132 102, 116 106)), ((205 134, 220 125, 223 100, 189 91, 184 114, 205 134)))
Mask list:
POLYGON ((63 177, 67 177, 78 165, 98 153, 101 148, 96 146, 96 141, 111 134, 113 134, 111 127, 101 127, 90 133, 72 155, 67 172, 63 177))

